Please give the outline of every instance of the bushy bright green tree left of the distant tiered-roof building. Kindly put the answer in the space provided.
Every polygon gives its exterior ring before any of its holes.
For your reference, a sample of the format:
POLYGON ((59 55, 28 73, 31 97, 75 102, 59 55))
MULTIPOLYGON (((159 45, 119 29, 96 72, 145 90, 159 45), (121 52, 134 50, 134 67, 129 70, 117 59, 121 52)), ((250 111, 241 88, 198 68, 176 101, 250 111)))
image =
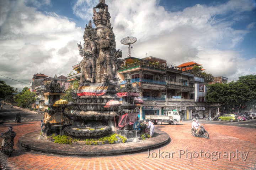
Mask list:
POLYGON ((22 92, 15 96, 15 102, 20 107, 29 107, 36 102, 36 94, 29 91, 28 87, 24 87, 22 92))

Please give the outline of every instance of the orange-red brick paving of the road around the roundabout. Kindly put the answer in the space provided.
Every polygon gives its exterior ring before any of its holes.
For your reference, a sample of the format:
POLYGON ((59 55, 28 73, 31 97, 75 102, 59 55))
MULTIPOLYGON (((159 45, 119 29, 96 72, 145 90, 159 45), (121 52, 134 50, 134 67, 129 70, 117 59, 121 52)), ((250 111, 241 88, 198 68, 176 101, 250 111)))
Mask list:
POLYGON ((205 123, 204 127, 209 132, 209 139, 205 139, 193 137, 190 134, 190 121, 178 125, 156 125, 155 130, 165 131, 170 135, 171 142, 161 148, 150 150, 150 157, 146 158, 148 151, 100 157, 65 156, 26 151, 17 147, 18 138, 29 132, 40 130, 40 122, 4 123, 0 124, 0 132, 6 131, 9 125, 14 126, 17 136, 15 137, 16 151, 12 153, 12 156, 6 157, 6 155, 0 154, 0 168, 6 170, 256 169, 256 136, 254 136, 256 129, 253 128, 205 123), (228 152, 232 156, 231 152, 236 154, 236 149, 238 152, 249 152, 247 159, 245 160, 245 156, 241 158, 239 154, 238 157, 235 155, 230 161, 230 157, 224 157, 224 153, 221 153, 218 158, 219 152, 228 152), (163 152, 163 157, 158 154, 159 152, 163 152), (202 156, 200 152, 203 152, 202 156), (192 153, 191 158, 190 153, 192 153), (204 155, 204 153, 206 154, 204 155), (212 156, 215 153, 217 156, 212 156), (210 157, 209 154, 211 154, 210 157), (216 158, 217 160, 215 160, 216 158))

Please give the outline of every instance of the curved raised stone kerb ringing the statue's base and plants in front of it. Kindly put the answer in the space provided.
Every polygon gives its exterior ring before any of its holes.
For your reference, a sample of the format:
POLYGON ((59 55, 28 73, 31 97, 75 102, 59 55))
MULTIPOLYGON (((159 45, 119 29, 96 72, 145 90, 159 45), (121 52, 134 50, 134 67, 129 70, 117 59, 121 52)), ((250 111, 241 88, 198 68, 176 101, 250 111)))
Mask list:
POLYGON ((72 155, 72 156, 102 156, 117 155, 134 152, 143 152, 148 149, 158 148, 171 141, 170 136, 160 130, 154 132, 154 137, 140 140, 139 142, 125 142, 103 145, 59 144, 49 140, 38 140, 40 131, 23 135, 18 140, 18 146, 29 151, 43 153, 72 155))

